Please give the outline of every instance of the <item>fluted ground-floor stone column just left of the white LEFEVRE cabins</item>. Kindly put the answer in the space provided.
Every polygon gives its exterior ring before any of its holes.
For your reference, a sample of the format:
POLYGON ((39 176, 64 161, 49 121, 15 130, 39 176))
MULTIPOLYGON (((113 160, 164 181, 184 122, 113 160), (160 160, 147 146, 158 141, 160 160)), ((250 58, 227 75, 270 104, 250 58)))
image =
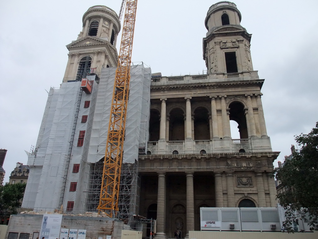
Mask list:
POLYGON ((189 231, 194 231, 194 194, 193 194, 193 172, 187 172, 187 234, 189 231))

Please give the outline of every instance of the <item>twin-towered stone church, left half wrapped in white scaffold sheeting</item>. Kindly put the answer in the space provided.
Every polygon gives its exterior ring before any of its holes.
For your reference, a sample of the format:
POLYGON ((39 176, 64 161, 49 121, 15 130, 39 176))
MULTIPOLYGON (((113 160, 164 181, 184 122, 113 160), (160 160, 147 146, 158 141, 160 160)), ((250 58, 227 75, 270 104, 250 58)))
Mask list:
MULTIPOLYGON (((123 168, 135 165, 140 180, 124 177, 130 181, 122 188, 138 192, 129 195, 127 210, 156 219, 157 237, 199 230, 200 207, 277 205, 271 172, 279 152, 266 131, 252 35, 240 22, 234 3, 210 7, 207 74, 151 77, 143 65, 131 68, 123 168), (240 139, 232 139, 230 120, 238 123, 240 139)), ((22 207, 96 210, 120 28, 113 10, 93 6, 77 40, 66 46, 65 76, 49 92, 22 207), (80 90, 86 77, 94 81, 91 93, 80 90)))

